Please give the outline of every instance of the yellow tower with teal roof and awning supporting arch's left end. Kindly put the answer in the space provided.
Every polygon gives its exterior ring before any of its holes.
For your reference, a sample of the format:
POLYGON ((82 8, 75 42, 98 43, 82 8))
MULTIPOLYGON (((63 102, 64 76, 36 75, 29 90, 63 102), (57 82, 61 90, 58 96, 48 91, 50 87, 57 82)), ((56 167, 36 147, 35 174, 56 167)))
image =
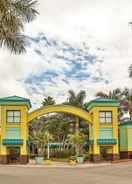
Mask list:
POLYGON ((30 101, 11 96, 0 99, 0 163, 28 162, 28 110, 30 101))

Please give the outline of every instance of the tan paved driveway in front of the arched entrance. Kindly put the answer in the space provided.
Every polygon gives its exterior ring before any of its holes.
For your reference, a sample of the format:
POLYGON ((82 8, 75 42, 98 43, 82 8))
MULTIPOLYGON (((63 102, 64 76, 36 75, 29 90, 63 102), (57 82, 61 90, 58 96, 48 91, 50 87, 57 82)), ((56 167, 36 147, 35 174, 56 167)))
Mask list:
POLYGON ((0 166, 0 184, 130 184, 132 162, 90 168, 0 166))

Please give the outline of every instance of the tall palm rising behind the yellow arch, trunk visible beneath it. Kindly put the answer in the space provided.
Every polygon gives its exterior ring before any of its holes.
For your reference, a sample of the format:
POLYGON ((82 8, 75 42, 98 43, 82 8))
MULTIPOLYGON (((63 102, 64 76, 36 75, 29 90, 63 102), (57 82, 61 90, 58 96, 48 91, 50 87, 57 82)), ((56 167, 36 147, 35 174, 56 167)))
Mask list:
MULTIPOLYGON (((67 102, 64 104, 73 105, 76 107, 83 107, 84 99, 86 98, 86 92, 84 90, 81 90, 78 94, 75 94, 73 90, 69 90, 69 98, 67 99, 67 102)), ((80 125, 80 119, 79 117, 76 117, 76 133, 79 133, 79 125, 80 125)))

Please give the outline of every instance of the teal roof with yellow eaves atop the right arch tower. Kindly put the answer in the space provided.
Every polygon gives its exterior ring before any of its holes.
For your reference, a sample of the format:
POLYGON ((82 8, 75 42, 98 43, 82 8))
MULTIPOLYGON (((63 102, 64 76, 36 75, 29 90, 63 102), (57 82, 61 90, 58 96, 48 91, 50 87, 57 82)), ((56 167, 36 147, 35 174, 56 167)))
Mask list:
POLYGON ((96 98, 85 103, 84 109, 90 110, 93 107, 119 107, 120 103, 116 99, 96 98))

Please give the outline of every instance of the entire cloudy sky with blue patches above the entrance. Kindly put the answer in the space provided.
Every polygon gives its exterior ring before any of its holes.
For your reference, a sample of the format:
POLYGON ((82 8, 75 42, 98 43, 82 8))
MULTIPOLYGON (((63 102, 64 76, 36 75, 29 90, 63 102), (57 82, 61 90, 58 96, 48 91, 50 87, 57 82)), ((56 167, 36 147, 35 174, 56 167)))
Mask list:
POLYGON ((38 0, 37 9, 25 25, 27 53, 0 49, 0 97, 27 97, 36 108, 48 95, 65 101, 69 89, 86 90, 88 101, 132 87, 131 0, 38 0))

